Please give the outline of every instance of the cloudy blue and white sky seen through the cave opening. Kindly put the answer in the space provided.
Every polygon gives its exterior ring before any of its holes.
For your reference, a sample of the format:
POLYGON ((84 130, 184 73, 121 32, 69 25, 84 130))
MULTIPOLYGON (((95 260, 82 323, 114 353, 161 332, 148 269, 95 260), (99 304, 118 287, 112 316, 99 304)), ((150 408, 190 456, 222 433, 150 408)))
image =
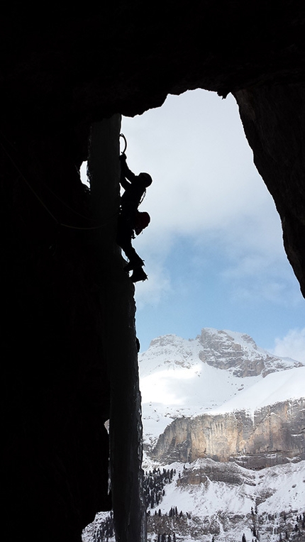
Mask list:
POLYGON ((123 116, 121 133, 130 169, 153 177, 139 208, 150 225, 133 241, 148 275, 135 283, 140 351, 213 327, 305 363, 305 300, 233 96, 167 96, 123 116))

